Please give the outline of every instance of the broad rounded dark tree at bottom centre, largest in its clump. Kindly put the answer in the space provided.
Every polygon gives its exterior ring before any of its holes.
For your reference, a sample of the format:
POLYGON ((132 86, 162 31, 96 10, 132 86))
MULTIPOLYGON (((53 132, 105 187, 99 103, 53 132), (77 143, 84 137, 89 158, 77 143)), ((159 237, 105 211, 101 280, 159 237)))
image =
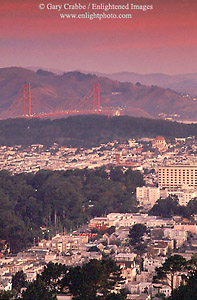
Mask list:
POLYGON ((107 299, 122 280, 121 271, 111 260, 90 260, 83 266, 71 267, 62 279, 74 300, 107 299))

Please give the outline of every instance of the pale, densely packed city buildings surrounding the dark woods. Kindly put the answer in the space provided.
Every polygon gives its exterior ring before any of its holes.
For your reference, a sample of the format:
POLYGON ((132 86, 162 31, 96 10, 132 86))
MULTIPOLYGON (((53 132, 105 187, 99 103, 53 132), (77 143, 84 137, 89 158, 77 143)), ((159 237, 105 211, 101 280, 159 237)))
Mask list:
MULTIPOLYGON (((193 137, 165 141, 156 139, 129 140, 125 144, 113 141, 92 149, 32 145, 23 148, 0 148, 0 167, 13 174, 37 172, 40 169, 69 170, 97 168, 110 165, 139 170, 144 186, 137 187, 137 213, 109 213, 95 217, 71 232, 57 232, 41 239, 17 255, 9 248, 1 251, 0 289, 12 289, 12 276, 23 271, 32 282, 49 262, 77 266, 91 259, 110 257, 121 269, 123 282, 117 289, 127 290, 127 299, 159 299, 170 296, 168 282, 155 283, 156 268, 169 256, 181 255, 189 261, 197 254, 197 216, 162 218, 148 211, 158 199, 176 195, 179 204, 186 206, 197 196, 197 143, 193 137), (179 175, 180 174, 180 175, 179 175), (141 224, 146 228, 138 247, 131 243, 130 230, 141 224)), ((48 230, 42 228, 43 236, 48 230)), ((174 287, 181 283, 181 275, 174 277, 174 287)), ((58 299, 72 299, 58 296, 58 299)), ((70 297, 70 298, 68 298, 70 297)))

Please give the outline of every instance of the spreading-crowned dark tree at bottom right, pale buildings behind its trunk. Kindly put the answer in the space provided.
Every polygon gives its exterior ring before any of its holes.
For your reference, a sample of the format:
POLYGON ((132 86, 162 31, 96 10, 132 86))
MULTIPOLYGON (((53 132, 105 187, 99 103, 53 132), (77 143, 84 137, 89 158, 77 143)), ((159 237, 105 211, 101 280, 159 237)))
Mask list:
POLYGON ((187 267, 187 262, 181 255, 170 256, 164 264, 156 268, 156 275, 153 277, 153 282, 162 282, 174 290, 174 277, 178 273, 184 273, 187 267))

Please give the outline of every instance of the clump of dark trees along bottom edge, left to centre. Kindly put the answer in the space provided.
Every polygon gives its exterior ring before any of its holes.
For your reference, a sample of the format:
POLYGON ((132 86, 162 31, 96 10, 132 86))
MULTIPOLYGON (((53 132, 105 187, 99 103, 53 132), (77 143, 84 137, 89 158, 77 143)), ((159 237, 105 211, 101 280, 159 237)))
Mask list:
POLYGON ((122 280, 120 274, 120 268, 111 259, 94 259, 82 266, 69 268, 49 263, 23 292, 22 299, 55 300, 57 294, 62 292, 71 294, 74 300, 124 300, 124 294, 113 293, 122 280))

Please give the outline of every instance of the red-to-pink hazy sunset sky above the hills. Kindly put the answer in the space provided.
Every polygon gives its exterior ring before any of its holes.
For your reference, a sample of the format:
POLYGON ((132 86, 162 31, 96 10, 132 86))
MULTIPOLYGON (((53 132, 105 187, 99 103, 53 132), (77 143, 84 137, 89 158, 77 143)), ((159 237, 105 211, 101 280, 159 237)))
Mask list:
POLYGON ((0 0, 0 67, 8 66, 197 72, 197 0, 0 0), (68 20, 59 16, 68 10, 49 10, 49 3, 133 3, 153 10, 105 12, 132 13, 128 20, 68 20))

